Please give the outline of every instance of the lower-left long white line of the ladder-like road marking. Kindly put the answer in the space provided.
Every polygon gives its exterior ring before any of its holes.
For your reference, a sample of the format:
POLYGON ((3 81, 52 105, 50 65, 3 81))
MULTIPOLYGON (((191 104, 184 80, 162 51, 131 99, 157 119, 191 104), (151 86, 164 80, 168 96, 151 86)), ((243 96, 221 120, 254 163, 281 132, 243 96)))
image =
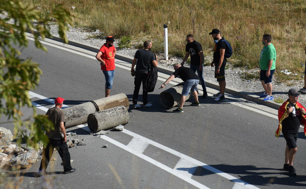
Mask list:
POLYGON ((132 154, 134 154, 134 155, 144 159, 144 160, 146 160, 147 162, 152 163, 153 165, 158 166, 159 168, 167 171, 168 173, 173 174, 174 176, 177 176, 178 178, 180 178, 182 180, 185 180, 186 182, 192 184, 195 187, 198 187, 198 188, 208 188, 208 187, 204 186, 203 184, 198 183, 197 181, 192 180, 191 178, 188 178, 187 176, 179 173, 178 171, 176 171, 174 169, 171 169, 170 167, 168 167, 168 166, 166 166, 166 165, 164 165, 164 164, 162 164, 162 163, 160 163, 160 162, 158 162, 158 161, 156 161, 156 160, 154 160, 154 159, 152 159, 152 158, 150 158, 150 157, 148 157, 148 156, 146 156, 146 155, 144 155, 142 153, 139 153, 138 151, 136 151, 136 150, 134 150, 134 149, 132 149, 130 147, 127 147, 124 144, 121 144, 120 142, 118 142, 116 140, 111 139, 108 136, 102 135, 102 136, 99 136, 99 137, 104 139, 104 140, 106 140, 106 141, 108 141, 108 142, 110 142, 110 143, 112 143, 112 144, 114 144, 114 145, 116 145, 116 146, 118 146, 118 147, 121 147, 122 149, 124 149, 124 150, 126 150, 126 151, 128 151, 128 152, 130 152, 130 153, 132 153, 132 154))

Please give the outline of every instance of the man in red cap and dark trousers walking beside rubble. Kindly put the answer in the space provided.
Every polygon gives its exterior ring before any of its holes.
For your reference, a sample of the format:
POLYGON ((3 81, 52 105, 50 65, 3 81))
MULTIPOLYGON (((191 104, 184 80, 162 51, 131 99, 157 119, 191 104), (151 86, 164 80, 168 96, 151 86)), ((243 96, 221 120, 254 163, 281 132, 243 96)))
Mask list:
POLYGON ((38 170, 39 176, 46 174, 46 169, 53 154, 53 149, 58 151, 61 156, 64 166, 64 174, 73 173, 76 169, 73 169, 70 165, 70 153, 68 151, 68 145, 66 143, 67 136, 65 130, 65 113, 61 110, 63 101, 65 99, 58 97, 55 99, 55 107, 50 108, 46 115, 53 123, 54 129, 46 131, 46 135, 49 138, 49 143, 46 148, 43 148, 43 158, 41 159, 40 167, 38 170))

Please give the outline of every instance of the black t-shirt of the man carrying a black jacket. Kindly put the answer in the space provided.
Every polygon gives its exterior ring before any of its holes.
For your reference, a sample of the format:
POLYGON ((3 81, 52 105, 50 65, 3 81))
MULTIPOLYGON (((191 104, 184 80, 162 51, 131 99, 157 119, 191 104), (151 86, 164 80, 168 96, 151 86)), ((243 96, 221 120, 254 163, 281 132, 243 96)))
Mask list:
POLYGON ((136 51, 134 58, 137 58, 136 73, 148 73, 150 71, 150 62, 155 60, 155 55, 145 49, 136 51))

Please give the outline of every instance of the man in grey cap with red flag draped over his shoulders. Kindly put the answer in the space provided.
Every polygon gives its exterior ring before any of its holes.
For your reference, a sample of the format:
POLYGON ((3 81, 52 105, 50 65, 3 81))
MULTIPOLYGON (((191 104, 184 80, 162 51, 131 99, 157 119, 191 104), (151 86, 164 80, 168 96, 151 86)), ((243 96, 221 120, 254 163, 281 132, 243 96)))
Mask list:
POLYGON ((297 152, 297 133, 299 132, 302 114, 306 114, 304 107, 297 102, 299 94, 297 90, 290 89, 288 92, 289 99, 278 110, 279 117, 282 117, 280 120, 281 130, 286 140, 284 169, 288 170, 290 176, 297 176, 296 170, 293 168, 293 159, 297 152))

